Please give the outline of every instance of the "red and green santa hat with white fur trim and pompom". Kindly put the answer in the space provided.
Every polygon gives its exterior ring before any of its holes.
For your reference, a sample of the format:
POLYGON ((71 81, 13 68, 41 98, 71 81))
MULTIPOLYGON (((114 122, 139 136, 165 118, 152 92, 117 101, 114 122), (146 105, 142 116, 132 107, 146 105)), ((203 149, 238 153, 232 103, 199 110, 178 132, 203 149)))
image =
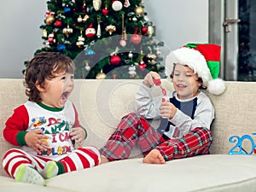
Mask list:
POLYGON ((166 75, 169 77, 174 64, 189 66, 203 81, 203 86, 214 94, 225 90, 223 79, 218 79, 220 46, 217 44, 186 44, 166 56, 166 75))

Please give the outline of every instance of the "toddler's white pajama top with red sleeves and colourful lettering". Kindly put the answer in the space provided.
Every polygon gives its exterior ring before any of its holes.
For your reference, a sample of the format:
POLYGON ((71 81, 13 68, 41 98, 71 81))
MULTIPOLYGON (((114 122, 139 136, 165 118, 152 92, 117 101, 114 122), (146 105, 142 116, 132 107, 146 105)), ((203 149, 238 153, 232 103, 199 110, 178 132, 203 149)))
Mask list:
POLYGON ((44 158, 61 160, 74 149, 69 136, 72 127, 81 127, 76 108, 67 101, 63 108, 49 108, 42 103, 26 102, 6 121, 3 137, 11 144, 21 146, 28 154, 39 155, 25 142, 27 131, 43 130, 49 144, 47 151, 41 154, 44 158))

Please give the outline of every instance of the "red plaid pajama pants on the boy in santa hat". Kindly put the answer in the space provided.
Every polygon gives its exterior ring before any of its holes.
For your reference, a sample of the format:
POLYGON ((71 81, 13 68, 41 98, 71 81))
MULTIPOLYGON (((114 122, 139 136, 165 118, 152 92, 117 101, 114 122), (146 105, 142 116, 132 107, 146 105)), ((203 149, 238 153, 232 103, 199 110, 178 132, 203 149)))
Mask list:
POLYGON ((137 145, 143 156, 156 148, 165 160, 208 154, 212 143, 212 132, 207 128, 197 127, 180 139, 165 139, 143 116, 137 113, 125 115, 100 153, 108 160, 124 160, 137 145))

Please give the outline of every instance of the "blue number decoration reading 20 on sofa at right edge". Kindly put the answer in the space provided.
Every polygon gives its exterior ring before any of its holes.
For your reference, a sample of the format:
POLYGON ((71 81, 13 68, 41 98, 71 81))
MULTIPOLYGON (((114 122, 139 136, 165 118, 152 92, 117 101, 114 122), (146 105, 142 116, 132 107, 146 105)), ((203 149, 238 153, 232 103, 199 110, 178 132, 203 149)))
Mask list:
MULTIPOLYGON (((255 136, 256 133, 253 133, 253 136, 255 136)), ((250 155, 250 154, 253 154, 253 151, 254 151, 254 148, 256 147, 254 141, 253 141, 253 137, 249 136, 249 135, 244 135, 242 137, 238 137, 238 136, 232 136, 229 138, 229 142, 230 143, 236 143, 235 146, 233 148, 230 149, 230 152, 229 154, 245 154, 245 155, 250 155), (245 139, 248 139, 251 143, 252 143, 252 150, 247 153, 247 151, 242 148, 242 142, 245 140, 245 139), (238 151, 235 149, 238 148, 238 151)))

